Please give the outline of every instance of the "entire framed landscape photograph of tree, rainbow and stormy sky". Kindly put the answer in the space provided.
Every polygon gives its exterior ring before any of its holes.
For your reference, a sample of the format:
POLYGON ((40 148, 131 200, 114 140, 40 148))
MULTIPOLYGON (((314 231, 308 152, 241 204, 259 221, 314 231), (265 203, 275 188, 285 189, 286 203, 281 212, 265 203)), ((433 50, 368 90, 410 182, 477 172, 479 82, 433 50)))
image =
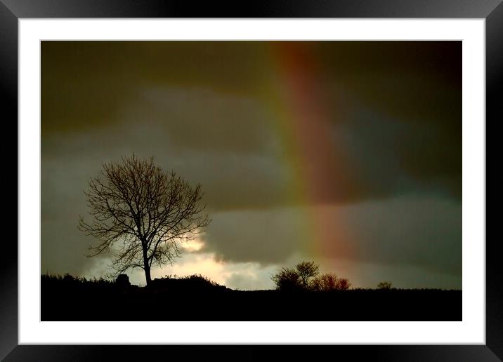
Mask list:
POLYGON ((462 321, 462 51, 41 40, 41 321, 462 321))

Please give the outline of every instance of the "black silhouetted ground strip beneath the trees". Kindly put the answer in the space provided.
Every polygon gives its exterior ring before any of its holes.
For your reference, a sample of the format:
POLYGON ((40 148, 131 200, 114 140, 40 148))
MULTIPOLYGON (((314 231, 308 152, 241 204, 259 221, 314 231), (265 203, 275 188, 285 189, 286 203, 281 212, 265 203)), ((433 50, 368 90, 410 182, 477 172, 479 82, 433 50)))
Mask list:
POLYGON ((461 321, 462 291, 231 290, 204 280, 148 288, 42 276, 42 321, 461 321))

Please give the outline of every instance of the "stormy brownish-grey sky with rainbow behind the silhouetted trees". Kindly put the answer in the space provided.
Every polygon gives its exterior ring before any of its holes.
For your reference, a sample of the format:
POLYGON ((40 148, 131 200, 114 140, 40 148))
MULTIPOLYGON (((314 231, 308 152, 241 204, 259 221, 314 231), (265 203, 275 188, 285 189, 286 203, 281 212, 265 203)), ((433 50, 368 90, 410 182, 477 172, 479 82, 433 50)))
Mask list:
POLYGON ((152 279, 268 289, 314 260, 354 287, 462 287, 460 41, 42 41, 41 273, 110 272, 79 215, 133 153, 200 183, 211 217, 152 279))

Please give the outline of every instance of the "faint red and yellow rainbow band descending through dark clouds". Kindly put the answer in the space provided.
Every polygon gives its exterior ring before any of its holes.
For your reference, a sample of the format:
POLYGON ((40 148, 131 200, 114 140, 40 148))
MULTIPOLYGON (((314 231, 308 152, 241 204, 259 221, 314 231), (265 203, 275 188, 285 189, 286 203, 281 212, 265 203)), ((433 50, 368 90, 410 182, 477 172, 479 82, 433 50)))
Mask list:
POLYGON ((331 139, 330 117, 335 115, 329 112, 327 92, 316 73, 319 60, 305 42, 272 41, 268 46, 273 76, 277 77, 268 89, 273 127, 284 149, 282 161, 294 176, 289 197, 294 203, 308 205, 303 208, 306 229, 301 236, 306 239, 306 251, 315 257, 348 256, 352 254, 348 230, 322 207, 337 188, 344 160, 338 158, 331 139))

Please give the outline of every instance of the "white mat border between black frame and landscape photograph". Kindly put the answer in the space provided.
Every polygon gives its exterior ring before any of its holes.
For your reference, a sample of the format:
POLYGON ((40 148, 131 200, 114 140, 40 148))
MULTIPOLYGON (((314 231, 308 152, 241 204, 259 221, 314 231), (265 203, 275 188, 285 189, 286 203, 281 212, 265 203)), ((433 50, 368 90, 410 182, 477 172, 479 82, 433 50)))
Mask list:
POLYGON ((485 344, 485 20, 20 19, 19 30, 20 344, 485 344), (462 40, 463 321, 41 322, 39 59, 50 39, 462 40))

